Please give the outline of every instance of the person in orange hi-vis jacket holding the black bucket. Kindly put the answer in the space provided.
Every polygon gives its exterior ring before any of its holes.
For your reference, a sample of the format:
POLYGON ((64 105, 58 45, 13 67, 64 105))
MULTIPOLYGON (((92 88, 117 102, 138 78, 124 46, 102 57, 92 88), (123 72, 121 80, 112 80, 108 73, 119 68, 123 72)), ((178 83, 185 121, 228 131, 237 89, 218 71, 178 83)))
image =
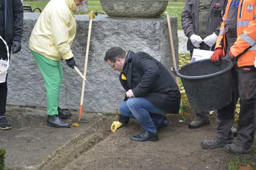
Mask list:
POLYGON ((206 149, 224 147, 230 154, 251 152, 256 131, 256 0, 229 0, 224 21, 216 41, 212 62, 221 57, 234 62, 232 68, 232 102, 218 109, 219 122, 214 140, 202 141, 206 149), (230 130, 236 102, 240 98, 237 140, 230 130))

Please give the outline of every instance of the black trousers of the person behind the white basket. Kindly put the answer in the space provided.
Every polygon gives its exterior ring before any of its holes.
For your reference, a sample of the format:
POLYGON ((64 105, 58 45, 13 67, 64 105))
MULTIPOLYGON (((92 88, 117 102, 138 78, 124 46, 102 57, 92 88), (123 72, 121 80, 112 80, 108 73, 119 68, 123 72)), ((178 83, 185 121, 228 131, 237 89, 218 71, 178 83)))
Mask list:
MULTIPOLYGON (((10 47, 9 47, 10 54, 10 47)), ((0 47, 0 59, 8 59, 7 51, 5 47, 0 47)), ((0 83, 0 116, 4 116, 6 112, 6 98, 7 98, 7 76, 6 81, 0 83)))

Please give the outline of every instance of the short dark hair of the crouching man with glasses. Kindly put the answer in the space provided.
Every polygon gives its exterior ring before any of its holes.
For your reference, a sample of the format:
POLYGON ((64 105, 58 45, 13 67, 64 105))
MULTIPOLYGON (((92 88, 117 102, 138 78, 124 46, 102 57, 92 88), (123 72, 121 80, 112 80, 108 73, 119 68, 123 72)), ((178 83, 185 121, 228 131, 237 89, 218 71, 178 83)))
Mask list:
POLYGON ((107 60, 109 60, 114 63, 116 58, 123 59, 124 57, 125 57, 125 51, 123 49, 121 49, 120 47, 111 47, 106 52, 104 61, 107 62, 107 60))

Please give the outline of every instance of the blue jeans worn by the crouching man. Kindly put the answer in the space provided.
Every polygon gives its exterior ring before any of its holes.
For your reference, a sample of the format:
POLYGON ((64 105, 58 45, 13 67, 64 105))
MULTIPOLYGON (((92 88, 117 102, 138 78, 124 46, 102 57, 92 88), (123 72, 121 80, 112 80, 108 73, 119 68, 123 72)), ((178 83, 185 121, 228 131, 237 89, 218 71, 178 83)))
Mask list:
POLYGON ((156 133, 154 123, 160 123, 164 119, 164 111, 145 98, 129 98, 119 105, 118 111, 123 116, 136 118, 142 128, 149 133, 156 133))

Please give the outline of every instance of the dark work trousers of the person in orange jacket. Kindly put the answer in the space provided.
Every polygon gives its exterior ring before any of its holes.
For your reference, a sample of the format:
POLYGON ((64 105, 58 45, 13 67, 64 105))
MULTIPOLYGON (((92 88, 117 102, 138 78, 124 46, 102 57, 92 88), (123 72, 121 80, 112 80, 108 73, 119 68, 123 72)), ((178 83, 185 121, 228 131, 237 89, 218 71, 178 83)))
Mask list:
MULTIPOLYGON (((230 105, 218 109, 219 122, 216 140, 220 143, 231 143, 233 134, 231 127, 234 122, 234 110, 238 92, 240 97, 240 113, 237 127, 236 144, 249 149, 254 141, 256 131, 256 68, 254 66, 235 66, 233 72, 237 80, 238 89, 232 91, 232 102, 230 105)), ((232 82, 233 83, 233 82, 232 82)))

